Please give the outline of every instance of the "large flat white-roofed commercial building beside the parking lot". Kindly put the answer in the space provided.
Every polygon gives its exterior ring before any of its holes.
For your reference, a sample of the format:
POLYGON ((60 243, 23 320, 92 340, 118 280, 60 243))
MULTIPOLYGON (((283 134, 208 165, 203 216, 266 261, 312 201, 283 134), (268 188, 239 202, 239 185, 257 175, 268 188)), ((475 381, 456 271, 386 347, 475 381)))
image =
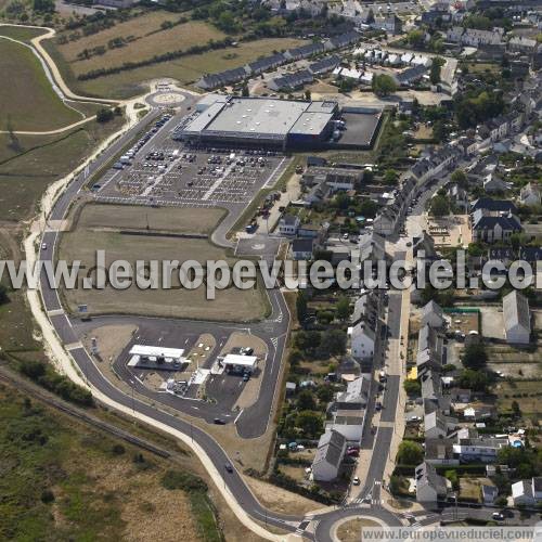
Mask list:
POLYGON ((320 147, 333 137, 338 104, 264 98, 206 96, 175 139, 206 144, 320 147))

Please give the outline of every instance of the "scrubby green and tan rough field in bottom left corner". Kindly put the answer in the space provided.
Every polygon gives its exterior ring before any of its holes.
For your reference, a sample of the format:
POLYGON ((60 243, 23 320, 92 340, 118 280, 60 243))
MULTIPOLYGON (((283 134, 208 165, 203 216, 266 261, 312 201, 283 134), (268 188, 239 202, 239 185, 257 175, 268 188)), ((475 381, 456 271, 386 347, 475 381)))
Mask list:
POLYGON ((3 385, 0 415, 2 540, 220 540, 204 491, 166 489, 169 462, 3 385))

